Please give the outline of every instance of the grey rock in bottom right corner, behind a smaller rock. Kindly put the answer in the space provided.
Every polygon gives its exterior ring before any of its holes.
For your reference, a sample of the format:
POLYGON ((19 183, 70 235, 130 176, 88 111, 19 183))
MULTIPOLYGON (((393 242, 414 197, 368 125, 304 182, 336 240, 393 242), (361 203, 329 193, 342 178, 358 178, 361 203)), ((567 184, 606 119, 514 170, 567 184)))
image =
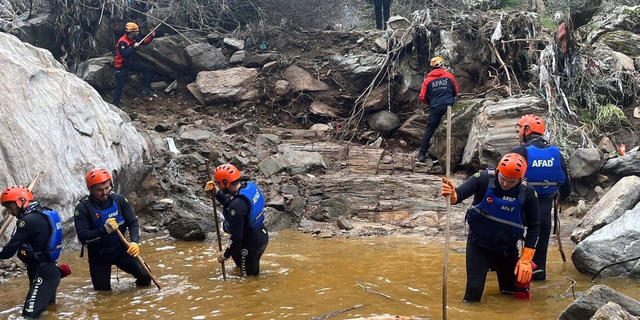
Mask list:
POLYGON ((594 285, 566 307, 558 320, 589 320, 598 308, 614 302, 634 316, 640 316, 640 302, 606 285, 594 285))

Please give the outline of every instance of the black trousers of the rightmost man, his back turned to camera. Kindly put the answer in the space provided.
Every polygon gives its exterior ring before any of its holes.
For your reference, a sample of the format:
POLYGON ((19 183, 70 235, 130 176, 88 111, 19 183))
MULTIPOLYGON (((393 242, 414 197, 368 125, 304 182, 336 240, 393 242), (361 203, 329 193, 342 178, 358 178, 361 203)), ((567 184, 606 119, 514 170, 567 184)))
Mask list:
POLYGON ((536 252, 532 261, 536 264, 531 280, 543 281, 547 278, 547 249, 549 248, 549 237, 551 236, 551 209, 554 204, 553 196, 538 197, 538 207, 540 207, 540 236, 536 244, 536 252))

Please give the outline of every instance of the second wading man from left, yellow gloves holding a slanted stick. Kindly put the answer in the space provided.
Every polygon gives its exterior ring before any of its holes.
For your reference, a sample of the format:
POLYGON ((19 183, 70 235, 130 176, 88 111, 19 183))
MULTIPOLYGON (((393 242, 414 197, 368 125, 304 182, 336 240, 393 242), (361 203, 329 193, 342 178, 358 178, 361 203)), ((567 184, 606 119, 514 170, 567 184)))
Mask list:
POLYGON ((74 211, 74 223, 80 243, 89 255, 89 273, 93 289, 111 290, 111 266, 122 269, 136 278, 136 285, 151 284, 151 278, 135 258, 140 253, 140 225, 129 200, 113 192, 111 175, 102 168, 86 174, 89 195, 80 199, 74 211), (127 248, 115 232, 125 234, 129 229, 131 243, 127 248))

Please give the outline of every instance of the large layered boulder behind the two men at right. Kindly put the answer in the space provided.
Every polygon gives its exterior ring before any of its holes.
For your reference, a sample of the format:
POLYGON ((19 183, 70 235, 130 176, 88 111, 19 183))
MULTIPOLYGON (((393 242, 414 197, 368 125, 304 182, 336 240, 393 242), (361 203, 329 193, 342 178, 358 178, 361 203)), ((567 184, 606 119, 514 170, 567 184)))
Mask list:
POLYGON ((476 170, 496 166, 502 155, 518 145, 517 119, 527 113, 542 114, 544 108, 545 102, 532 95, 513 95, 499 102, 485 102, 469 131, 462 164, 476 170))

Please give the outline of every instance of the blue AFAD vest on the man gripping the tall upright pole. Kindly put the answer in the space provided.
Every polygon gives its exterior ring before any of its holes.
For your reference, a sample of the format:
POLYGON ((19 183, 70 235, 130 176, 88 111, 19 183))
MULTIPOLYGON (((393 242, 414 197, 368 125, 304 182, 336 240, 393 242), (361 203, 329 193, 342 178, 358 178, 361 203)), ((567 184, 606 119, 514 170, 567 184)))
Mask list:
POLYGON ((495 170, 487 168, 489 186, 484 199, 467 211, 467 223, 474 243, 486 250, 500 252, 523 239, 522 205, 527 190, 525 179, 520 183, 520 194, 512 200, 504 200, 493 193, 495 170))

